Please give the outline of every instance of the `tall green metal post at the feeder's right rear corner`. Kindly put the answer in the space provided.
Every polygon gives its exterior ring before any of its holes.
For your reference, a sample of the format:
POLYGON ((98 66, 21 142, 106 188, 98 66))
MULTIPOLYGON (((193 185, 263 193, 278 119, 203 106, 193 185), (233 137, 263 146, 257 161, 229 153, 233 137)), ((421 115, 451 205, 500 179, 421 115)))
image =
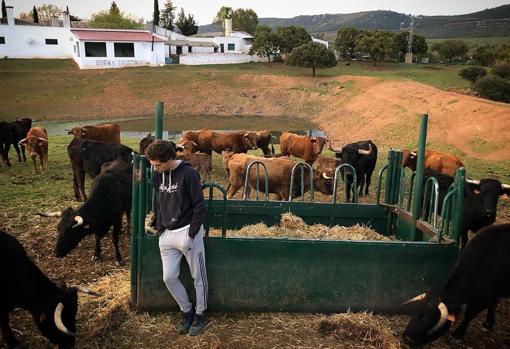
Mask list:
MULTIPOLYGON (((421 194, 423 190, 423 172, 425 160, 425 146, 427 144, 427 123, 428 114, 423 114, 420 120, 420 138, 418 142, 418 159, 416 160, 416 178, 414 180, 414 197, 413 197, 413 230, 411 232, 411 241, 418 239, 418 230, 416 229, 416 221, 420 218, 421 212, 421 194)), ((421 236, 419 237, 421 239, 421 236)))

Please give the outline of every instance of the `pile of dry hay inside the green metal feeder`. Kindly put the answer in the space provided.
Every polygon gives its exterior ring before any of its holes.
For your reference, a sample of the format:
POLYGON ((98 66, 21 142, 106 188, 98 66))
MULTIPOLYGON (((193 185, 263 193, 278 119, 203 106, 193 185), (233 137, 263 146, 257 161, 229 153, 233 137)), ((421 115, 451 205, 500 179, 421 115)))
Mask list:
MULTIPOLYGON (((209 236, 221 236, 221 231, 211 229, 209 236)), ((264 223, 246 225, 238 230, 227 230, 227 237, 272 237, 299 238, 316 240, 376 240, 390 241, 387 236, 377 233, 362 224, 351 227, 335 225, 328 227, 323 224, 307 225, 302 218, 292 213, 284 213, 279 226, 268 227, 264 223)))

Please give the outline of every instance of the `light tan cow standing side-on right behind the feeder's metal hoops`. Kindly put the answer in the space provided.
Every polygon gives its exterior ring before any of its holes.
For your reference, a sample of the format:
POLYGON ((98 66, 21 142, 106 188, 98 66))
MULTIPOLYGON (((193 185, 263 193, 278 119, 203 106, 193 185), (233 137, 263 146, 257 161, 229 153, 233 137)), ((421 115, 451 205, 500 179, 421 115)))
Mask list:
MULTIPOLYGON (((300 170, 297 170, 297 175, 294 176, 293 192, 290 190, 290 177, 292 168, 297 164, 296 161, 286 158, 265 158, 248 154, 234 154, 228 160, 229 169, 229 188, 227 191, 227 198, 231 199, 239 188, 244 186, 246 177, 247 165, 252 161, 261 161, 267 166, 268 170, 268 191, 276 194, 278 200, 288 200, 289 196, 292 198, 298 197, 301 194, 301 176, 300 170)), ((250 170, 249 186, 250 188, 257 187, 256 178, 256 165, 250 170)), ((315 170, 313 174, 313 182, 315 190, 323 194, 333 194, 333 178, 328 177, 326 173, 315 170)), ((310 190, 310 174, 305 170, 304 175, 304 192, 310 190)), ((262 166, 259 168, 259 188, 264 190, 264 169, 262 166)), ((250 188, 246 190, 249 196, 250 188)))

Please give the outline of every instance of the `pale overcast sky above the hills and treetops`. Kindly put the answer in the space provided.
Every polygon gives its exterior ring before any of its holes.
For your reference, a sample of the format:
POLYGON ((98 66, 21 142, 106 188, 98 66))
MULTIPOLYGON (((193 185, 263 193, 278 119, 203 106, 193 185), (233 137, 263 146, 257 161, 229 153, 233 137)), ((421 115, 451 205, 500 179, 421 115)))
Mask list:
MULTIPOLYGON (((166 0, 159 0, 160 10, 166 0)), ((154 0, 116 0, 119 8, 136 18, 152 18, 154 0)), ((259 17, 290 18, 299 15, 323 13, 352 13, 369 10, 392 10, 416 15, 454 15, 476 12, 486 8, 507 4, 509 0, 175 0, 174 6, 184 7, 186 13, 195 16, 199 25, 209 24, 221 6, 252 8, 259 17)), ((94 12, 110 7, 111 0, 5 0, 7 6, 14 6, 17 16, 32 7, 53 4, 65 9, 69 6, 71 14, 87 18, 94 12)))

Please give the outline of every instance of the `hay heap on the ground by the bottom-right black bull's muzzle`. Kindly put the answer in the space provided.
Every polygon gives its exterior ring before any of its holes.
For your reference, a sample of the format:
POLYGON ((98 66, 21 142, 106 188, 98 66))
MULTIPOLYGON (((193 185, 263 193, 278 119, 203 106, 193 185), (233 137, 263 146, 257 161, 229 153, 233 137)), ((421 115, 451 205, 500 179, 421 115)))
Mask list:
POLYGON ((328 316, 320 321, 319 333, 333 336, 343 345, 374 349, 398 349, 400 341, 392 331, 387 319, 368 312, 342 313, 328 316))

